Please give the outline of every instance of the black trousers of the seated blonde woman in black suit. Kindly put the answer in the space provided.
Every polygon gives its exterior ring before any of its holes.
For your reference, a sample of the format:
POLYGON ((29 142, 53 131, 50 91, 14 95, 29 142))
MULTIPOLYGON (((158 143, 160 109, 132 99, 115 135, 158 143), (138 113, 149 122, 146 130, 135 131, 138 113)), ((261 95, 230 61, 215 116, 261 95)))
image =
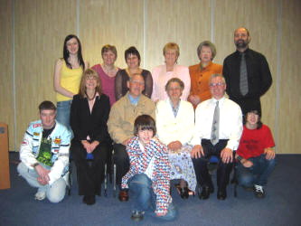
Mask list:
POLYGON ((94 158, 89 165, 86 149, 79 141, 72 141, 71 155, 76 165, 80 195, 100 194, 108 151, 109 145, 100 143, 92 152, 94 158))

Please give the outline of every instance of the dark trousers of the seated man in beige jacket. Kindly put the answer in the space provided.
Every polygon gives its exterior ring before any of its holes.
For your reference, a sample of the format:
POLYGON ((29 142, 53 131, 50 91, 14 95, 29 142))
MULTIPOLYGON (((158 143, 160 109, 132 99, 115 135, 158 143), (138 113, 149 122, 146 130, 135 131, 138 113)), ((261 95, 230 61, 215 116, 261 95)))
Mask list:
POLYGON ((129 170, 129 157, 127 155, 126 146, 121 144, 114 144, 114 163, 116 164, 116 183, 119 188, 122 177, 127 174, 129 170))

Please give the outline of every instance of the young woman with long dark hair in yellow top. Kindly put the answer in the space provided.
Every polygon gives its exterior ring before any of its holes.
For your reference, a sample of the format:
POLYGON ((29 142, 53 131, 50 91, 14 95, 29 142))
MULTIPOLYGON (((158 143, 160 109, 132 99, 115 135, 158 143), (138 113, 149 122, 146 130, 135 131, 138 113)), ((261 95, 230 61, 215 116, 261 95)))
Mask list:
POLYGON ((56 119, 69 129, 71 101, 79 92, 80 79, 87 68, 89 63, 82 59, 80 39, 74 34, 68 35, 63 45, 63 58, 55 62, 54 90, 57 92, 56 119))

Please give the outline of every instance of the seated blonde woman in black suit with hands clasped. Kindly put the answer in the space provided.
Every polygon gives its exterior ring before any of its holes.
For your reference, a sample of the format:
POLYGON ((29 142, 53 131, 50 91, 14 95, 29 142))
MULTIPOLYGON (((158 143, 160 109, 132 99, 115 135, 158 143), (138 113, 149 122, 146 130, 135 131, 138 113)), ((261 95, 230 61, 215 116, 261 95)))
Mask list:
POLYGON ((110 137, 108 135, 108 96, 101 93, 101 83, 96 71, 84 71, 80 81, 80 91, 71 104, 71 128, 74 138, 71 154, 77 167, 79 194, 83 202, 95 203, 95 194, 100 194, 104 179, 105 162, 108 155, 110 137), (93 155, 92 165, 87 162, 87 154, 93 155))

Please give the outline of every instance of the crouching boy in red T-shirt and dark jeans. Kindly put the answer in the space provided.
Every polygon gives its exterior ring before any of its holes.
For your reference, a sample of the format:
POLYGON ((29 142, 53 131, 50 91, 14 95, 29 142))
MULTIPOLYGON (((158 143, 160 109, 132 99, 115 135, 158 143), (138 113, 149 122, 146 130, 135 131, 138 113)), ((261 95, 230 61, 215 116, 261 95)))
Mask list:
POLYGON ((236 153, 239 184, 253 188, 255 196, 264 198, 263 186, 275 168, 275 146, 268 126, 260 121, 258 110, 250 110, 246 115, 246 124, 236 153))

